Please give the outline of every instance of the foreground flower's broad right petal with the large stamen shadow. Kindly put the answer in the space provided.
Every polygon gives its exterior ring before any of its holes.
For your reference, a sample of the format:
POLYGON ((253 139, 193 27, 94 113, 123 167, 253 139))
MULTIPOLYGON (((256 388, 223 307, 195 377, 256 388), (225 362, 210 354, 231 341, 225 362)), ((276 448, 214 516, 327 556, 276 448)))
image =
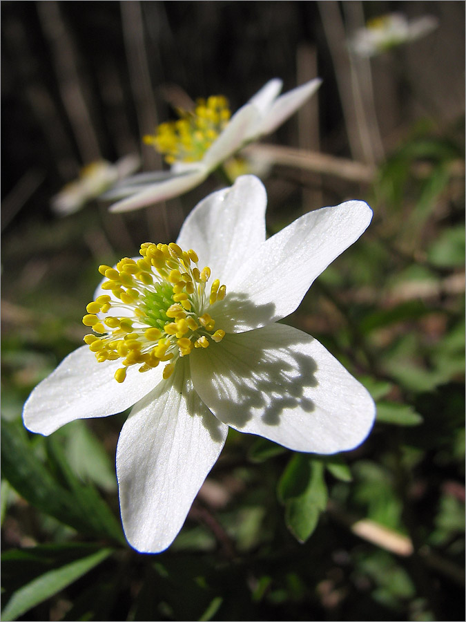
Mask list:
POLYGON ((336 453, 367 437, 375 404, 313 337, 272 324, 191 357, 195 390, 221 421, 294 451, 336 453))

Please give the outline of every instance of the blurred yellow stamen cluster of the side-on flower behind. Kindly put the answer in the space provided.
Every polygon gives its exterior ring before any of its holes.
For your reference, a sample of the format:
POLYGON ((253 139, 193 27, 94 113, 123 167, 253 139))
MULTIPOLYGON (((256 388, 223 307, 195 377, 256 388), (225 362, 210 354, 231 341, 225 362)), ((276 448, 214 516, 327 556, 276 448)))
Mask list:
POLYGON ((207 101, 197 100, 193 112, 179 111, 179 115, 179 120, 159 125, 155 135, 144 136, 144 142, 164 154, 168 164, 202 160, 231 113, 226 97, 212 95, 207 101))

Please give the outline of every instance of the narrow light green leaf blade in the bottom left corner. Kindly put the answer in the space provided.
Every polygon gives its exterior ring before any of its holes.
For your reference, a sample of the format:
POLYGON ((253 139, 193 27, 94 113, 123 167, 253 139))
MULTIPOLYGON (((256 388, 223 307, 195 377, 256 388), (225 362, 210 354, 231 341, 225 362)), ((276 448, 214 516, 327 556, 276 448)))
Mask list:
POLYGON ((61 568, 50 570, 50 572, 46 572, 27 583, 14 592, 8 601, 1 616, 2 621, 8 622, 22 616, 32 607, 57 594, 57 592, 63 590, 70 583, 89 572, 112 553, 113 549, 101 549, 92 555, 64 565, 61 568))

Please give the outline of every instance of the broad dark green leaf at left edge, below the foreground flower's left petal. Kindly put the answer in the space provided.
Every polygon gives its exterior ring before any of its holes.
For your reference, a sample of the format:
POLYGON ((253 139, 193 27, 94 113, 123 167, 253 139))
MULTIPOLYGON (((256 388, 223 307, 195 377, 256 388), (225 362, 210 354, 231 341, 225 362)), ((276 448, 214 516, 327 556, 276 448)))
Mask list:
MULTIPOLYGON (((117 519, 104 500, 95 489, 77 480, 63 456, 56 464, 60 464, 64 483, 58 482, 32 451, 21 422, 3 421, 1 428, 3 476, 24 499, 77 531, 125 542, 117 519)), ((58 443, 58 440, 48 439, 49 448, 55 448, 50 455, 55 454, 55 458, 60 453, 58 443)))

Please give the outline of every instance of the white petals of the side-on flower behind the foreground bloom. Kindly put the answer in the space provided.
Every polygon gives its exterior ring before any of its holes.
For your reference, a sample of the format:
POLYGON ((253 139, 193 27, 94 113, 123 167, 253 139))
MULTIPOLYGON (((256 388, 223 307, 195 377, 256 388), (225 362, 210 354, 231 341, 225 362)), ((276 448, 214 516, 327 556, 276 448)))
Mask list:
POLYGON ((110 211, 130 211, 153 205, 199 185, 245 144, 277 129, 317 91, 321 82, 320 78, 315 78, 279 96, 282 80, 270 80, 231 117, 202 159, 197 162, 177 161, 169 173, 143 173, 126 180, 106 198, 129 198, 111 205, 110 211))

